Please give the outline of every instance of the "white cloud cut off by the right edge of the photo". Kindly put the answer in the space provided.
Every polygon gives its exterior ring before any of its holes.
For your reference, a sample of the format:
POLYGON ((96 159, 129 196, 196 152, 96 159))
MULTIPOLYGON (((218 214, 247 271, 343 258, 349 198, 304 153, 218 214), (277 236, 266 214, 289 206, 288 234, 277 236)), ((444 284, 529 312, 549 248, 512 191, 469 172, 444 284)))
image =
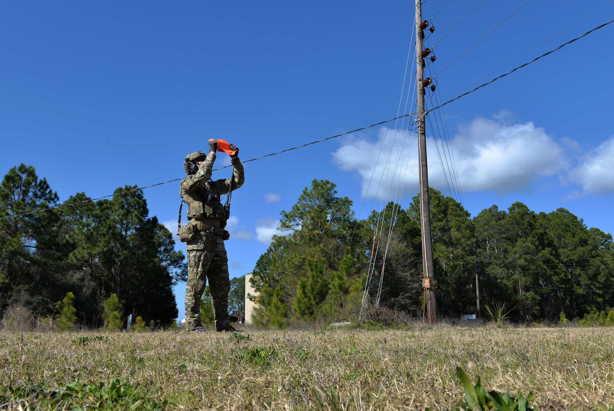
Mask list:
POLYGON ((614 193, 614 137, 583 157, 570 178, 583 187, 585 194, 614 193))

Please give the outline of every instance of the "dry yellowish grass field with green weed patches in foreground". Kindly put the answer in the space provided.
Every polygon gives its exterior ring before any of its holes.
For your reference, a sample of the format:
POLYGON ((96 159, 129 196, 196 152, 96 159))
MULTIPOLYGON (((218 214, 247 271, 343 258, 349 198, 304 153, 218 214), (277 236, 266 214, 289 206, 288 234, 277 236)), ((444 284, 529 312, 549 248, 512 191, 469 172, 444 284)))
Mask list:
POLYGON ((0 332, 0 409, 454 409, 456 366, 538 409, 614 407, 613 328, 410 327, 0 332))

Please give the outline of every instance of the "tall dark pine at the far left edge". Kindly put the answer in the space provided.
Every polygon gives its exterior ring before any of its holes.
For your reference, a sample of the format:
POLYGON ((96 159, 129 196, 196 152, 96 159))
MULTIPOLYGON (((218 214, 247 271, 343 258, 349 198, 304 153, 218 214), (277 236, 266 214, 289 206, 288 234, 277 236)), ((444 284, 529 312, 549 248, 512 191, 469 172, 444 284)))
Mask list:
POLYGON ((0 184, 0 313, 9 305, 23 304, 50 314, 64 296, 63 278, 53 269, 61 251, 56 241, 58 215, 54 211, 31 213, 55 206, 58 194, 33 166, 12 167, 0 184), (11 217, 14 216, 14 217, 11 217))

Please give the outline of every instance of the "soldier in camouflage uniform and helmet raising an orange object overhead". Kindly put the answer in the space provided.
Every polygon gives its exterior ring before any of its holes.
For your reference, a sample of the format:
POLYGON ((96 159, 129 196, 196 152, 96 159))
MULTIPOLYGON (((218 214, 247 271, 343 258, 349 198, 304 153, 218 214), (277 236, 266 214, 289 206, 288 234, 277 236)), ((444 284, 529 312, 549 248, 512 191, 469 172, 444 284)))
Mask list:
MULTIPOLYGON (((188 255, 188 281, 185 289, 185 327, 187 331, 206 331, 200 319, 200 300, 206 280, 213 300, 217 331, 236 331, 228 318, 228 257, 224 240, 228 232, 223 230, 228 219, 228 208, 222 205, 220 197, 243 186, 243 165, 239 161, 238 149, 231 156, 233 176, 230 179, 211 180, 213 163, 216 160, 217 142, 209 143, 209 154, 197 151, 185 157, 184 168, 188 176, 181 182, 183 201, 188 205, 188 224, 193 230, 186 243, 188 255), (190 224, 192 224, 190 226, 190 224)), ((180 211, 181 215, 181 211, 180 211)), ((181 235, 180 235, 181 238, 181 235)))

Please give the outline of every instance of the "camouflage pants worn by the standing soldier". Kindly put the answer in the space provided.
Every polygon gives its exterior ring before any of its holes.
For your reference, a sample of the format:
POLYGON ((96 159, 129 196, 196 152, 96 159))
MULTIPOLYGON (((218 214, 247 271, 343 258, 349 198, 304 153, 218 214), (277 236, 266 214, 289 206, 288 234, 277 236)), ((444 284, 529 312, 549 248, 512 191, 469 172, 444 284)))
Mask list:
POLYGON ((209 232, 196 233, 185 246, 188 254, 188 282, 185 288, 185 327, 200 327, 200 300, 209 280, 209 292, 213 301, 216 329, 230 326, 228 318, 228 292, 230 278, 228 257, 224 241, 209 232))

